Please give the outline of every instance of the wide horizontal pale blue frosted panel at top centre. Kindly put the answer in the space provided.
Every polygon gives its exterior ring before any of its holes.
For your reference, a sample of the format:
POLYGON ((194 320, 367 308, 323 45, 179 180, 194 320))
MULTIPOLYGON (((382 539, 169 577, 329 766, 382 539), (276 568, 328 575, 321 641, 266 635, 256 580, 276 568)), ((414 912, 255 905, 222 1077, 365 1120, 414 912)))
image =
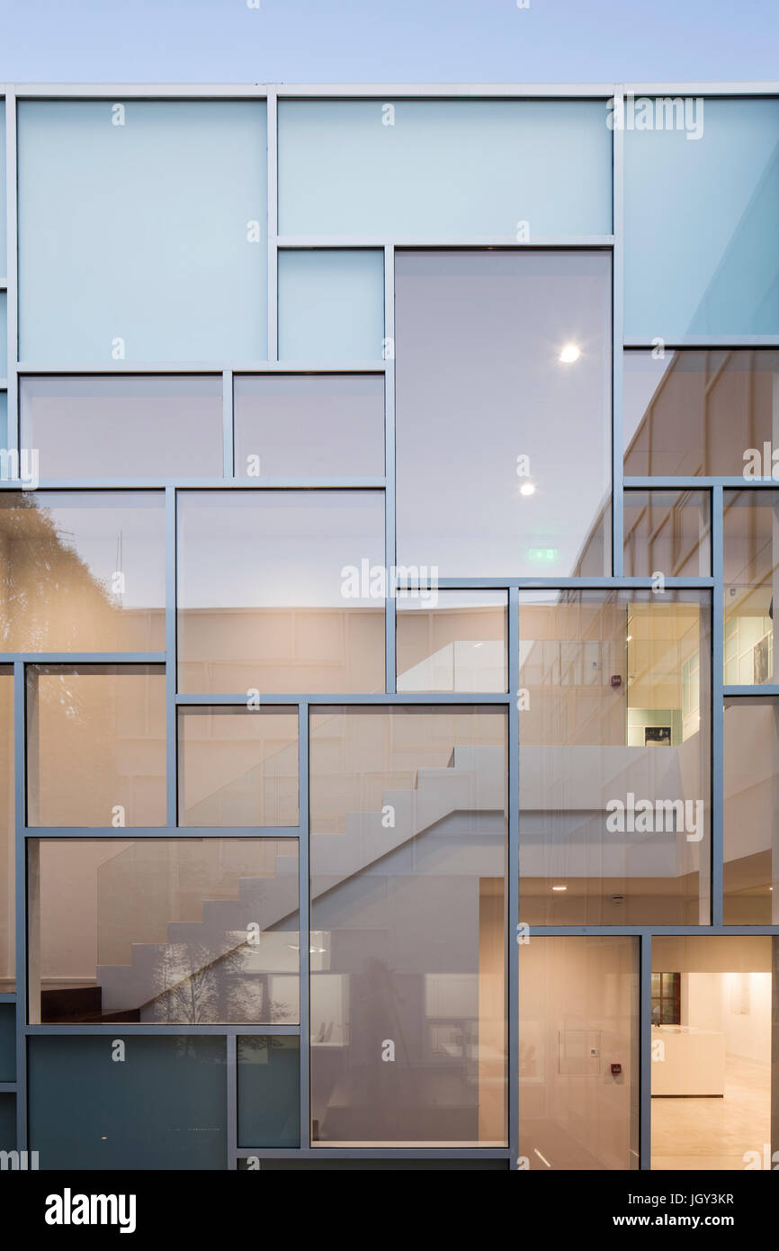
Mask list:
POLYGON ((609 234, 598 100, 284 100, 281 234, 609 234))

